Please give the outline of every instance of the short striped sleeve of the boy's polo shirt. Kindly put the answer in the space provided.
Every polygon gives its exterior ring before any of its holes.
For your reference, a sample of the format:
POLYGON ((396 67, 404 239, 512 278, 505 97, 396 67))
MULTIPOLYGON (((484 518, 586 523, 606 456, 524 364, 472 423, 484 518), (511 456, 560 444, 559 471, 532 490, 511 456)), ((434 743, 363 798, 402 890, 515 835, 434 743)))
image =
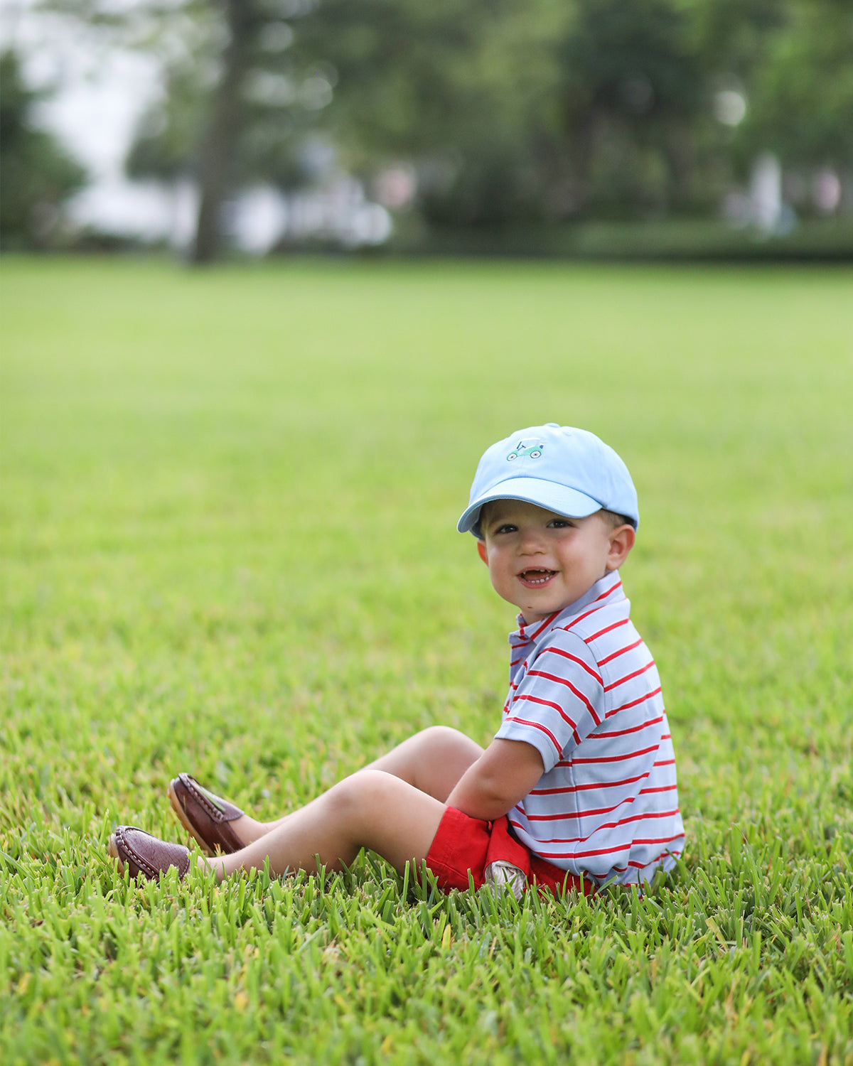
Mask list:
POLYGON ((572 753, 605 717, 605 689, 595 657, 574 633, 553 630, 511 694, 495 733, 532 744, 545 772, 572 753))

